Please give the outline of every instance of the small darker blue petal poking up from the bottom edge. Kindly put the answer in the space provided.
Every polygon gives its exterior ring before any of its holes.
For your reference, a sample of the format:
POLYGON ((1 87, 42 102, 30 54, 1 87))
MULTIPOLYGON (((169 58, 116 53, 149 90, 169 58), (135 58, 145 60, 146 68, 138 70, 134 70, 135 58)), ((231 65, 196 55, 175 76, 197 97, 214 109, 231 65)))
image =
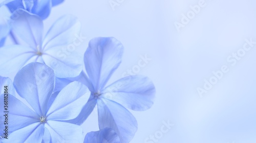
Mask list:
POLYGON ((87 133, 84 143, 120 143, 119 136, 111 128, 105 128, 96 132, 87 133))

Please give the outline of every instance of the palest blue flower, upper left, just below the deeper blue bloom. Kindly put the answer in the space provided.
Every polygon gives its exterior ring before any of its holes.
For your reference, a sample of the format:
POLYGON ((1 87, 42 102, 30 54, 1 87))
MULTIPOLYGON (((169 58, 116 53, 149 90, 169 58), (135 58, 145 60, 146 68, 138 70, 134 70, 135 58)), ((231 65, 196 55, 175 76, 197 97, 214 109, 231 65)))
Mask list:
POLYGON ((77 18, 66 15, 50 28, 44 40, 44 25, 40 17, 21 10, 12 16, 12 33, 20 45, 0 48, 0 75, 17 73, 31 62, 44 63, 51 67, 56 77, 75 77, 82 71, 82 53, 78 52, 81 24, 77 18))

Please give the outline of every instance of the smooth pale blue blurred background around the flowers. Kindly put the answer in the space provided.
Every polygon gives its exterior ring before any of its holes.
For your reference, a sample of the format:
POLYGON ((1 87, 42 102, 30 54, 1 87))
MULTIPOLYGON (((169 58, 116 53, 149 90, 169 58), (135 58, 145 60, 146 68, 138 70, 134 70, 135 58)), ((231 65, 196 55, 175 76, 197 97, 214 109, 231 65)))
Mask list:
MULTIPOLYGON (((131 111, 139 125, 133 143, 144 143, 168 120, 174 127, 158 142, 256 142, 256 45, 236 66, 226 60, 246 38, 256 41, 256 2, 205 0, 206 7, 178 32, 174 22, 198 2, 124 0, 113 11, 108 0, 67 0, 45 21, 47 30, 63 14, 77 16, 88 38, 84 49, 93 37, 120 40, 123 62, 111 81, 137 65, 140 55, 152 59, 138 74, 154 81, 157 98, 150 110, 131 111), (223 65, 229 72, 200 98, 197 88, 223 65)), ((98 130, 95 112, 82 127, 98 130)))

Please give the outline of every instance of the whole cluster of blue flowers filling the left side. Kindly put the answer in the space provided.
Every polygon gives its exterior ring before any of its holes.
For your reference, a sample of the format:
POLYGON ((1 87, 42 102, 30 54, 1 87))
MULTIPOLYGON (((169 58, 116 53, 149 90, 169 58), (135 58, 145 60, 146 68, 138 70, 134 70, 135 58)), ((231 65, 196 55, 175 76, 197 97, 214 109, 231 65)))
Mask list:
MULTIPOLYGON (((9 0, 0 4, 12 13, 7 26, 0 25, 0 101, 4 103, 4 87, 8 87, 9 111, 8 134, 3 130, 5 117, 0 116, 0 142, 130 142, 137 121, 128 109, 150 108, 154 84, 141 75, 107 84, 123 54, 122 44, 113 37, 92 39, 85 53, 73 47, 62 54, 80 35, 81 27, 76 17, 62 16, 43 37, 43 20, 62 2, 9 0), (14 45, 5 45, 8 36, 14 45), (13 82, 10 73, 16 74, 13 82), (96 106, 100 130, 84 137, 80 125, 96 106)), ((1 103, 0 111, 5 110, 1 103)))

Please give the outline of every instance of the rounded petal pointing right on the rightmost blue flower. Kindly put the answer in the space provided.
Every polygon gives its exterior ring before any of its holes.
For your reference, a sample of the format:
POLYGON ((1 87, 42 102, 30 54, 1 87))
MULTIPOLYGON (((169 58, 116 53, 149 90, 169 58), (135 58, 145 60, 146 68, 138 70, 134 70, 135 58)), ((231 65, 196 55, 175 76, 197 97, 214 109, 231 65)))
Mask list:
POLYGON ((143 111, 151 108, 155 98, 153 82, 141 75, 127 76, 109 85, 102 97, 120 103, 126 108, 143 111))

